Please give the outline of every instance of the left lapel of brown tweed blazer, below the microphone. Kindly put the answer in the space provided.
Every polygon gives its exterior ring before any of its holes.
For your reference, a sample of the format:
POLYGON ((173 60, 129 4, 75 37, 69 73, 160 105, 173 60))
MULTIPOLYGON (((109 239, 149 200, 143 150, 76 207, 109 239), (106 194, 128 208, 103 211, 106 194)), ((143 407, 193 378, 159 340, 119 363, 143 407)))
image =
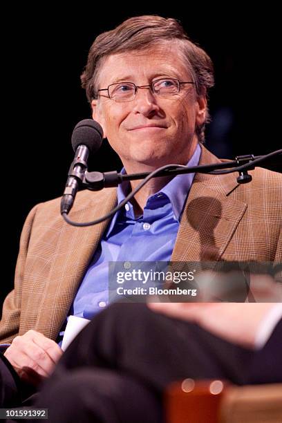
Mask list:
MULTIPOLYGON (((86 195, 91 197, 89 192, 86 195)), ((109 213, 116 205, 116 189, 106 189, 100 193, 98 201, 96 193, 93 197, 85 207, 72 211, 70 218, 77 222, 88 222, 109 213)), ((55 260, 46 283, 35 330, 53 339, 57 336, 108 224, 109 220, 89 227, 73 227, 62 220, 62 232, 57 242, 55 260)))

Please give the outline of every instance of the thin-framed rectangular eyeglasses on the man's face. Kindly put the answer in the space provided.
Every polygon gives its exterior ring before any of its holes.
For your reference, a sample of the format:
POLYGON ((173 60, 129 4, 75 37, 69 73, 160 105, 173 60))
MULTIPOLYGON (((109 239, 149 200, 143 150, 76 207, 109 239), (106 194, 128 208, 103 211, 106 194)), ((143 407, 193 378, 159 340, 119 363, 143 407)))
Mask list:
POLYGON ((102 88, 97 91, 108 91, 108 96, 115 102, 131 102, 134 100, 139 88, 149 88, 153 94, 159 97, 171 97, 180 92, 182 84, 194 84, 194 82, 180 82, 178 79, 157 79, 149 85, 137 86, 133 82, 118 82, 118 84, 111 84, 108 88, 102 88))

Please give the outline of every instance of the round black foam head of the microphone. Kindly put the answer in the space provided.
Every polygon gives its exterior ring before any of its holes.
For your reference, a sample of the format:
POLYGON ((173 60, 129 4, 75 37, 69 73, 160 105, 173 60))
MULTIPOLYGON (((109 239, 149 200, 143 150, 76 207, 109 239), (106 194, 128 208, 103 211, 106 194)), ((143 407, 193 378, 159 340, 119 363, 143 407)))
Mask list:
POLYGON ((103 139, 103 129, 98 122, 92 119, 84 119, 78 122, 71 135, 71 144, 74 151, 79 145, 86 145, 89 153, 95 153, 101 147, 103 139))

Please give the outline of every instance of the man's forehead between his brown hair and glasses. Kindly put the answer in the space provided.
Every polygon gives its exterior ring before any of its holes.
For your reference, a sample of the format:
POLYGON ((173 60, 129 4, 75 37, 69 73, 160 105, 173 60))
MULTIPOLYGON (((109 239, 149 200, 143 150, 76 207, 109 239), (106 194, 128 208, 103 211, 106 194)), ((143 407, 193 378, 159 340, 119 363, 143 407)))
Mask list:
POLYGON ((98 76, 98 84, 113 84, 120 80, 142 84, 154 77, 189 77, 184 54, 174 43, 142 50, 109 55, 104 59, 98 76), (141 80, 142 79, 142 80, 141 80))

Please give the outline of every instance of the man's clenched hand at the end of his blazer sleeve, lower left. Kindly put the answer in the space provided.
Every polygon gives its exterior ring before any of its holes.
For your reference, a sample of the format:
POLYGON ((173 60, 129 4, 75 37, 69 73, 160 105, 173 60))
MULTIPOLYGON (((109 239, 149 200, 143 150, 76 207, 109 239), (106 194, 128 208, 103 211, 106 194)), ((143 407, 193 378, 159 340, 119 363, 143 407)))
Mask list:
POLYGON ((62 353, 55 341, 36 330, 28 330, 13 339, 4 355, 21 379, 37 386, 52 373, 62 353))

